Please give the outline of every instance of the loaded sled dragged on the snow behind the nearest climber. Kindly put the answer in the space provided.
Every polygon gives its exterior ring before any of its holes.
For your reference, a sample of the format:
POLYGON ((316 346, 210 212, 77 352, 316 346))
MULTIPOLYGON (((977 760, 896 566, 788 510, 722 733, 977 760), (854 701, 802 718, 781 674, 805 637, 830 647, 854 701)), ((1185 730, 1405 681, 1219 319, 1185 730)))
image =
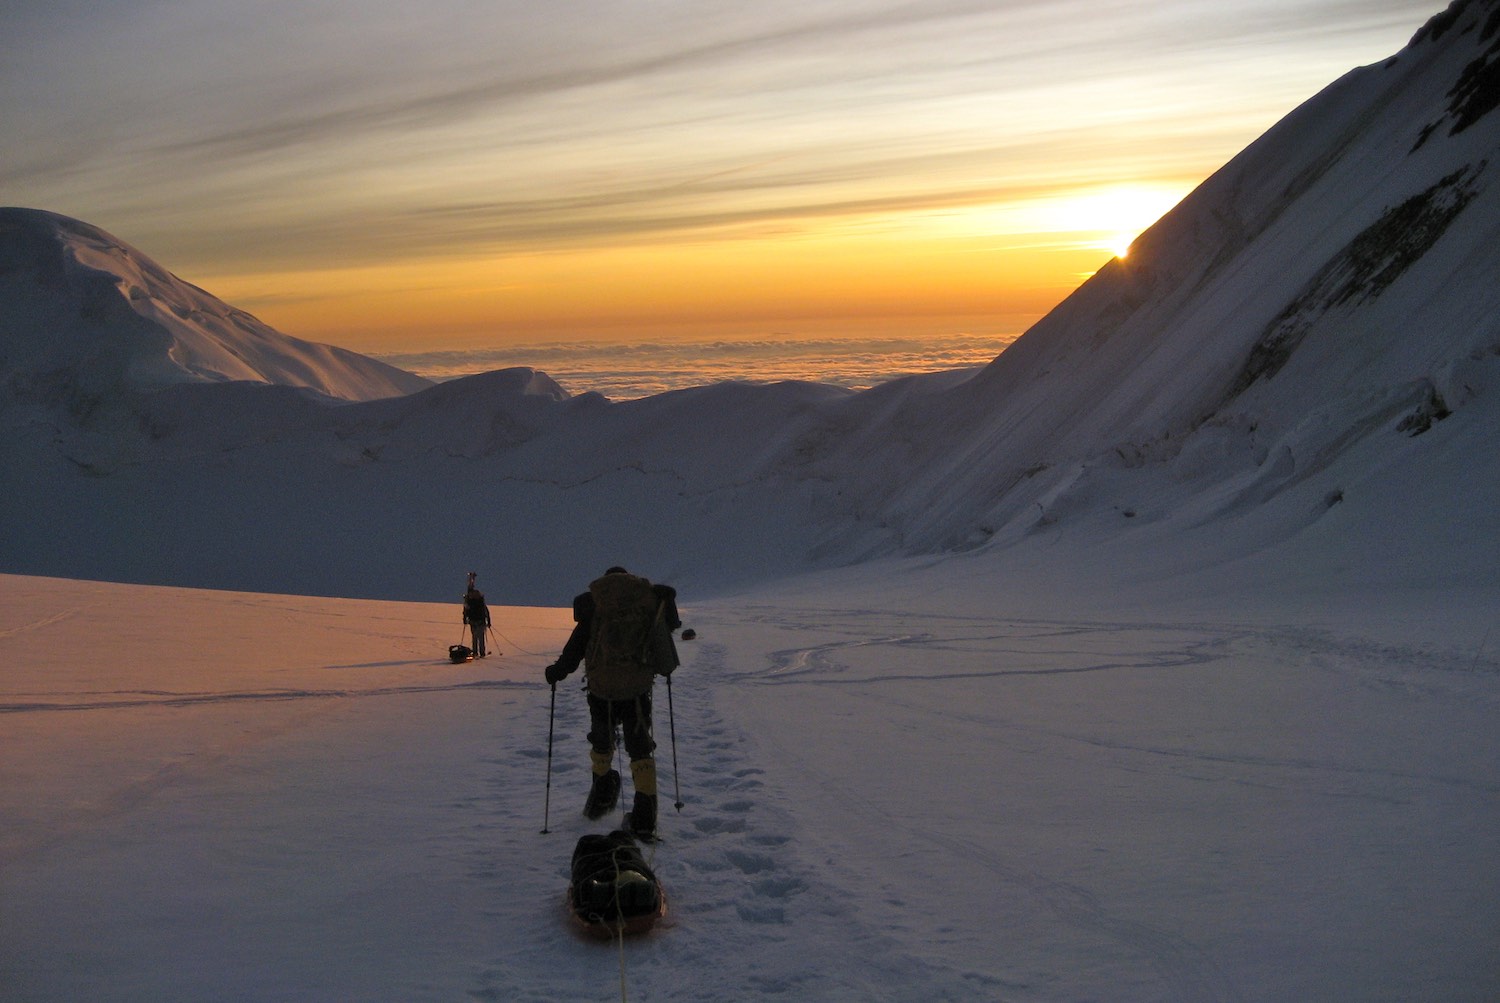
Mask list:
POLYGON ((644 934, 666 916, 666 892, 622 829, 579 837, 566 901, 573 925, 600 940, 644 934))

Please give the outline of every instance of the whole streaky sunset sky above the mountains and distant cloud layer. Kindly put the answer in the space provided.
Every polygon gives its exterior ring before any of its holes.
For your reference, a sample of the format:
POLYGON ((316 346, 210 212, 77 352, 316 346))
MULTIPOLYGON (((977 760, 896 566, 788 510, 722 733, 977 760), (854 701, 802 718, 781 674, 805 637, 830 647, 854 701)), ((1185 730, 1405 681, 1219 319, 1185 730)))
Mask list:
POLYGON ((0 202, 357 351, 1004 336, 1440 9, 8 7, 0 202))

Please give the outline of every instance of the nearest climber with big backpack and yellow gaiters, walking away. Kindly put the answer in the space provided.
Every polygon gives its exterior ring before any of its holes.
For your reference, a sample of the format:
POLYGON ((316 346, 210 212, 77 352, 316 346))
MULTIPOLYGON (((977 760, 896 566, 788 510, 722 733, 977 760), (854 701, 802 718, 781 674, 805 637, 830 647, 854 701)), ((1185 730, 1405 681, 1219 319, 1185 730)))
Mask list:
POLYGON ((609 568, 573 600, 573 633, 558 660, 546 667, 556 687, 579 663, 588 694, 588 744, 592 786, 584 814, 600 819, 620 801, 620 771, 614 768, 616 729, 630 757, 634 804, 624 828, 642 838, 656 835, 657 774, 651 730, 651 688, 680 664, 672 631, 682 625, 676 589, 652 585, 621 567, 609 568))

